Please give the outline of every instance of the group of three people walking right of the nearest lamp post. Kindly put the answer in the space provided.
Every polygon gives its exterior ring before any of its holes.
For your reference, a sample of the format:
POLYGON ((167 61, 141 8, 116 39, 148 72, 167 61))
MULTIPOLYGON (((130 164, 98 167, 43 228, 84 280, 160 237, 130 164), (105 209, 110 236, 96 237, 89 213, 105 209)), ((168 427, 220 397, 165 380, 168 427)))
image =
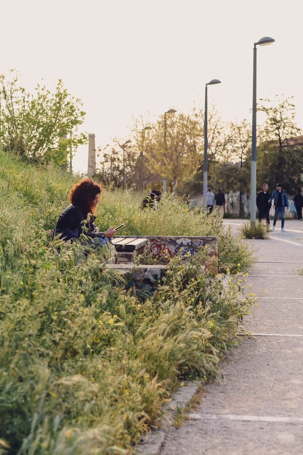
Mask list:
MULTIPOLYGON (((299 189, 297 191, 297 194, 293 198, 298 220, 302 220, 303 196, 301 193, 302 193, 302 191, 299 189)), ((257 199, 256 199, 257 207, 259 210, 259 221, 261 221, 263 218, 265 218, 268 226, 270 225, 269 211, 271 208, 272 200, 274 200, 274 206, 275 206, 275 216, 274 216, 274 224, 273 224, 272 232, 275 231, 275 226, 276 226, 276 222, 277 222, 279 213, 281 214, 281 231, 286 232, 286 230, 284 228, 285 207, 289 207, 289 202, 288 202, 288 197, 286 195, 286 192, 285 192, 285 190, 282 189, 281 184, 276 184, 276 189, 273 192, 273 194, 271 194, 268 191, 268 184, 267 183, 263 184, 262 191, 260 191, 258 193, 257 199)))

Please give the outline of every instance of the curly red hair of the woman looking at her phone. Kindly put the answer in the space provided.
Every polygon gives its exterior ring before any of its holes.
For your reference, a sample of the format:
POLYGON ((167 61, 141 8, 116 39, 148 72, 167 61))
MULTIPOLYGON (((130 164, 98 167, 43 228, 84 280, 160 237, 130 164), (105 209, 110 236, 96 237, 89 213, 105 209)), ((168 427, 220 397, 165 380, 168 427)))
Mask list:
POLYGON ((85 215, 93 214, 95 207, 92 206, 92 201, 101 192, 100 185, 95 184, 90 178, 83 178, 73 186, 69 199, 72 204, 79 205, 85 215))

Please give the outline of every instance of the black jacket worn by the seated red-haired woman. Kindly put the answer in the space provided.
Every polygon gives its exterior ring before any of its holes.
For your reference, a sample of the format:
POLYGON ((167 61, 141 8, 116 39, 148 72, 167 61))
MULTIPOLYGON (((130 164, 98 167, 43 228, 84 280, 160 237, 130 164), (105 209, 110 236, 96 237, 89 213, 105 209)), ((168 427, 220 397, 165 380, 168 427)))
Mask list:
POLYGON ((69 205, 59 216, 54 234, 61 234, 69 229, 70 231, 77 231, 79 235, 83 233, 92 238, 102 237, 104 239, 103 232, 92 232, 96 227, 94 224, 95 216, 90 215, 88 221, 84 223, 87 216, 88 213, 84 213, 79 205, 69 205))

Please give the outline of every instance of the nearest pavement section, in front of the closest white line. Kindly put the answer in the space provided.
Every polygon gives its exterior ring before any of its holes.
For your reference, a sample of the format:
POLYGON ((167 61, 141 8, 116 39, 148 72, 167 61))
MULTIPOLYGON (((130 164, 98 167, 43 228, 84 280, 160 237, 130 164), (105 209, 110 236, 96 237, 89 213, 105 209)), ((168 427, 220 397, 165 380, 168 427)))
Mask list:
POLYGON ((303 446, 301 425, 279 422, 205 419, 171 435, 161 455, 301 455, 303 446))

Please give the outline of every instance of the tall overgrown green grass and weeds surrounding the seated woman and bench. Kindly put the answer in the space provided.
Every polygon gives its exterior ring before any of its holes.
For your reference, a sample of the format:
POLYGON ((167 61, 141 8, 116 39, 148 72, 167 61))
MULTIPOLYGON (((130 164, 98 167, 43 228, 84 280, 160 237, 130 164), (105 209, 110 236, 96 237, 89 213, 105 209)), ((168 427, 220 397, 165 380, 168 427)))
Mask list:
MULTIPOLYGON (((201 273, 198 255, 174 258, 157 292, 139 298, 121 272, 100 273, 102 249, 85 255, 76 242, 58 252, 46 231, 74 179, 0 152, 2 453, 130 453, 180 379, 216 376, 255 301, 242 276, 226 285, 201 273)), ((157 211, 140 202, 105 192, 99 228, 124 221, 128 234, 218 235, 221 268, 251 259, 220 218, 170 196, 157 211)))

